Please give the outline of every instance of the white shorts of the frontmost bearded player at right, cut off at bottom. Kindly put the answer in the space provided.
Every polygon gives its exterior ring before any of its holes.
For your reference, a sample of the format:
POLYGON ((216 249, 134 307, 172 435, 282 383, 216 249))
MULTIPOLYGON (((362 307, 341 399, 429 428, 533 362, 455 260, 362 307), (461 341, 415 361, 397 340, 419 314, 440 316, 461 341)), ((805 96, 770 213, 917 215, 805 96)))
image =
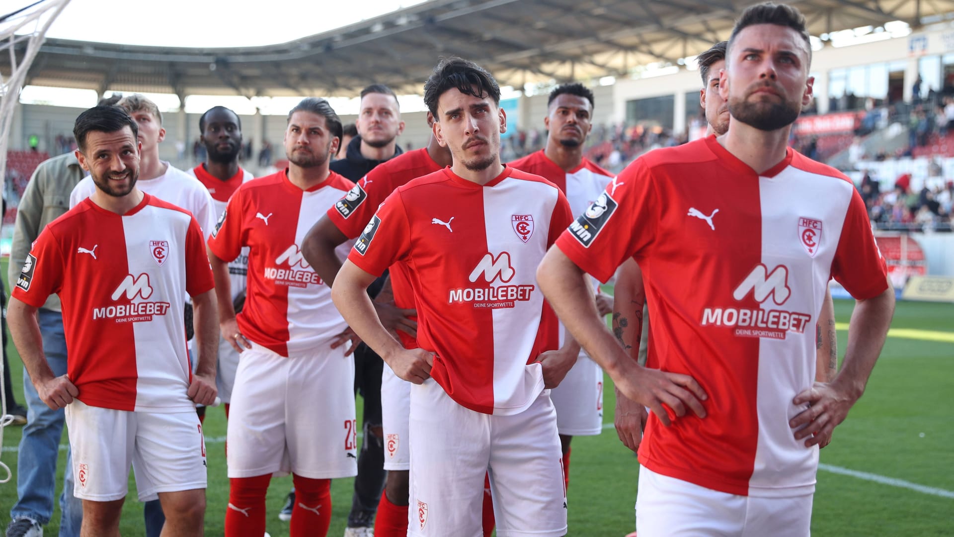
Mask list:
POLYGON ((738 496, 657 474, 640 465, 636 533, 639 537, 807 537, 813 496, 738 496))

